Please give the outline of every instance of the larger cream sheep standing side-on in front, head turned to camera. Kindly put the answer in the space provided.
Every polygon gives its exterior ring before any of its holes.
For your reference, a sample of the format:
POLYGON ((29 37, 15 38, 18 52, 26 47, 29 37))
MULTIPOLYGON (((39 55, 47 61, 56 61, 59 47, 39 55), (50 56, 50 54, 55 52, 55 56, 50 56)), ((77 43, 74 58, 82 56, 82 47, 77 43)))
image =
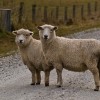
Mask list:
POLYGON ((37 27, 48 66, 57 72, 57 86, 61 87, 63 68, 84 72, 90 70, 94 76, 95 89, 99 91, 100 81, 100 41, 95 39, 69 39, 56 36, 57 26, 37 27))

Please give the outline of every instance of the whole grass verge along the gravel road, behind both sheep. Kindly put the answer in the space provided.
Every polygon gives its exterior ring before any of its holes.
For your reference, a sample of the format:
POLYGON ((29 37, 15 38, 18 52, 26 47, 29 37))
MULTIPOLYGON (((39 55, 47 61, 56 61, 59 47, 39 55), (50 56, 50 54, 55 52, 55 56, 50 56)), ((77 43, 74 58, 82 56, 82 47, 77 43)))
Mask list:
MULTIPOLYGON (((59 25, 57 30, 58 36, 67 36, 76 32, 80 32, 83 30, 87 30, 90 28, 99 28, 100 20, 89 20, 89 21, 81 21, 75 22, 73 25, 59 25)), ((1 34, 1 33, 0 33, 1 34)), ((34 28, 34 38, 39 39, 38 31, 34 28)), ((0 57, 7 56, 9 54, 17 51, 17 46, 15 44, 15 37, 11 33, 2 33, 0 35, 0 57)))

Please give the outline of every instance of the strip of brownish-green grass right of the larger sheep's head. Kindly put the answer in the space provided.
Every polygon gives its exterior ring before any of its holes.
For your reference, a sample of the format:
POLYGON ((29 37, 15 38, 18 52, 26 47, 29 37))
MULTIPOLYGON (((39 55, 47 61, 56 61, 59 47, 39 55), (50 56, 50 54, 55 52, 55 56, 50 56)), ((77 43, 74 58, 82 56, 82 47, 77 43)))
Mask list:
POLYGON ((87 29, 92 29, 92 28, 100 28, 100 21, 87 21, 87 22, 81 22, 81 23, 76 23, 74 25, 70 26, 59 26, 59 29, 57 31, 57 35, 59 36, 67 36, 76 32, 81 32, 87 29))

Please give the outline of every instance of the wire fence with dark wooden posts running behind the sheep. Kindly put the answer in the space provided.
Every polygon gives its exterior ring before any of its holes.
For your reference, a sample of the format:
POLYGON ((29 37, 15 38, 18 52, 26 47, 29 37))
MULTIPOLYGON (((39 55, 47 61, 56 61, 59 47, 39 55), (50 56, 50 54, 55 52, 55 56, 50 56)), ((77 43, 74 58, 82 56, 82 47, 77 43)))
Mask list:
POLYGON ((38 24, 40 22, 70 25, 74 21, 100 18, 100 2, 97 1, 67 6, 39 6, 33 4, 30 8, 27 8, 26 5, 24 2, 20 2, 18 6, 14 6, 14 2, 12 2, 8 7, 11 9, 11 23, 13 23, 13 26, 14 24, 38 24))

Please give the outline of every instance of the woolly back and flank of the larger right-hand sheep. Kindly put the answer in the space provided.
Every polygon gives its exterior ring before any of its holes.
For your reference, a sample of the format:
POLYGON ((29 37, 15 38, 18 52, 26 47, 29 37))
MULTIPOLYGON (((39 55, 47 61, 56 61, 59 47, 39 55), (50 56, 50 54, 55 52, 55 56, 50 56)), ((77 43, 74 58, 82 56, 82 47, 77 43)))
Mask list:
MULTIPOLYGON (((52 45, 52 62, 57 61, 69 70, 85 71, 86 62, 100 52, 100 42, 95 39, 66 39, 57 37, 52 45), (54 57, 53 57, 54 55, 54 57)), ((50 50, 51 51, 51 50, 50 50)))

